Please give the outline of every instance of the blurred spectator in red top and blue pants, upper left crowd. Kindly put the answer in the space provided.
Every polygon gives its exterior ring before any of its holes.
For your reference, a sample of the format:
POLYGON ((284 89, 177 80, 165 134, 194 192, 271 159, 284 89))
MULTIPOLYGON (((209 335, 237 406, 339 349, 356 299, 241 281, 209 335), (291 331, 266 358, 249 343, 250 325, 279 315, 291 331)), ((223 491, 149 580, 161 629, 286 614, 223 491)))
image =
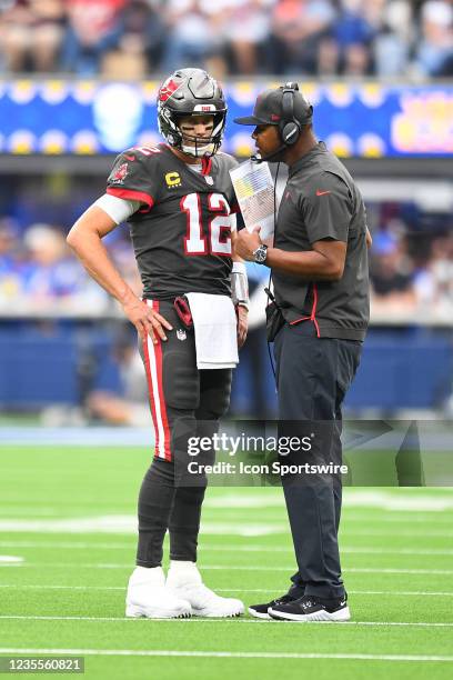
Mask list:
MULTIPOLYGON (((99 72, 102 58, 118 47, 121 10, 128 0, 66 0, 68 30, 62 50, 62 68, 82 76, 99 72)), ((118 73, 118 76, 121 76, 118 73)))

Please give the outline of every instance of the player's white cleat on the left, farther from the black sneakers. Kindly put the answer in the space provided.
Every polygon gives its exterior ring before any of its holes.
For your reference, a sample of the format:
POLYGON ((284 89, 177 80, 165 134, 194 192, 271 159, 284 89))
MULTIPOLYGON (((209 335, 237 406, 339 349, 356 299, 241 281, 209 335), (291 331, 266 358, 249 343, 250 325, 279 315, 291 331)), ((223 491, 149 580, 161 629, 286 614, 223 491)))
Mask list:
POLYGON ((181 619, 190 617, 190 604, 165 586, 162 567, 137 567, 129 579, 125 616, 147 619, 181 619))

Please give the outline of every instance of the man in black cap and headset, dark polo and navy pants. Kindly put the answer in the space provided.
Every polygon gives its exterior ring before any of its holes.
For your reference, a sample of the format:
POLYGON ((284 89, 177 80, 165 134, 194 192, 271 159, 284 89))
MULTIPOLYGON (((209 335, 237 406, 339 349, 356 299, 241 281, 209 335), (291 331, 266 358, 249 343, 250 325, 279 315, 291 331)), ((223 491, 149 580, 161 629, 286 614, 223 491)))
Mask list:
MULTIPOLYGON (((264 91, 252 116, 235 119, 254 127, 260 160, 289 167, 273 247, 262 243, 259 229, 243 229, 238 253, 271 269, 274 298, 266 316, 279 432, 316 432, 311 461, 341 463, 341 408, 369 323, 371 237, 361 193, 316 140, 312 116, 298 84, 288 83, 264 91)), ((346 621, 338 543, 341 476, 290 473, 282 486, 298 572, 286 594, 249 611, 258 618, 346 621)))

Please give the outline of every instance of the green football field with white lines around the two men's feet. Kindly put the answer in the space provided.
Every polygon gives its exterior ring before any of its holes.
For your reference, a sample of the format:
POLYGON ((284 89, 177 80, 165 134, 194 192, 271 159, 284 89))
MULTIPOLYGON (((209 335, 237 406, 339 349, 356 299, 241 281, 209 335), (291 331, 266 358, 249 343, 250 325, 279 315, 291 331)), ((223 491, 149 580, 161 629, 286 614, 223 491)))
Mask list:
MULTIPOLYGON (((345 490, 351 622, 130 620, 149 459, 144 448, 0 448, 0 657, 81 656, 100 680, 453 677, 453 490, 345 490)), ((199 564, 245 603, 283 593, 294 559, 281 490, 211 488, 199 564)))

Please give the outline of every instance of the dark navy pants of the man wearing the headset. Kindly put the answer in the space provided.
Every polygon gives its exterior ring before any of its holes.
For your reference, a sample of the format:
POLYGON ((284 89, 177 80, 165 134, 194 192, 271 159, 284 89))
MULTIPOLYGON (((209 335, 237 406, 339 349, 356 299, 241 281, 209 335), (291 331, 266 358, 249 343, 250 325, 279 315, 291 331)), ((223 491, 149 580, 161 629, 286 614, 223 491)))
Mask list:
MULTIPOLYGON (((310 321, 285 324, 274 343, 281 431, 312 438, 310 453, 290 462, 341 464, 341 406, 359 366, 362 343, 318 338, 310 321), (314 436, 314 437, 312 437, 314 436)), ((340 474, 289 474, 282 478, 299 571, 300 594, 341 598, 338 531, 340 474)))

